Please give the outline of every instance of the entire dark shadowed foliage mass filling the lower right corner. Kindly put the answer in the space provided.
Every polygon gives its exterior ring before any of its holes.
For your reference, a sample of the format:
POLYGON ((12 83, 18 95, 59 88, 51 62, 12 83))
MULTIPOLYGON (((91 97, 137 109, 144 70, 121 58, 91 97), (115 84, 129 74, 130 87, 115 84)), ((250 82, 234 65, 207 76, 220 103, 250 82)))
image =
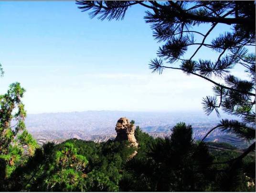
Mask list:
POLYGON ((124 173, 119 183, 120 190, 254 191, 255 156, 214 165, 212 163, 236 158, 240 153, 232 151, 235 148, 229 144, 208 144, 230 150, 208 152, 205 143, 193 142, 191 126, 178 123, 170 138, 156 139, 142 159, 134 157, 128 162, 128 173, 124 173))

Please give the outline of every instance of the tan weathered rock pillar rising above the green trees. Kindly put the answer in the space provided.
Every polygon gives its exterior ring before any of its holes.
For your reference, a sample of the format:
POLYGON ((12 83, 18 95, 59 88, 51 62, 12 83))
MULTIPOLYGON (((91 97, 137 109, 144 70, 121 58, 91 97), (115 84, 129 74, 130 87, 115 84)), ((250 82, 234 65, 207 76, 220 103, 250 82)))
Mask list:
POLYGON ((117 137, 116 141, 128 140, 131 146, 138 147, 138 142, 134 136, 135 126, 129 122, 129 119, 122 117, 118 119, 116 124, 117 137))

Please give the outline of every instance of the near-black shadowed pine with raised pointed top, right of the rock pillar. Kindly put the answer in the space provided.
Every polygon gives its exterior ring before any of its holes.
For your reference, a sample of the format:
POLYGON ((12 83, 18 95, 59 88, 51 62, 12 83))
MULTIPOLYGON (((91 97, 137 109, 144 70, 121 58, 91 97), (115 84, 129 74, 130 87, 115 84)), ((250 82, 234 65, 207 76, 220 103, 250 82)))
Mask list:
POLYGON ((132 176, 125 176, 121 184, 131 178, 136 180, 130 191, 205 191, 212 180, 212 161, 207 147, 193 142, 192 127, 178 123, 169 138, 151 143, 143 159, 128 162, 132 176))

